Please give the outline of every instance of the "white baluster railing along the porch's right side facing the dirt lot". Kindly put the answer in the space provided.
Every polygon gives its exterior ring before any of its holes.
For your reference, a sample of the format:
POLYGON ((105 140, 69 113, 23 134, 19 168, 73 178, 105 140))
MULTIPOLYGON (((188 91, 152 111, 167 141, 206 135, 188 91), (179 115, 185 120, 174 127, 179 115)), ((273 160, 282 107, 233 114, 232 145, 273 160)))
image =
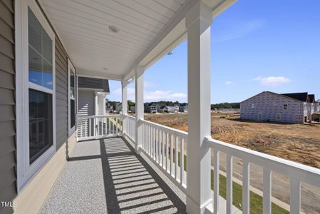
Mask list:
MULTIPOLYGON (((125 126, 127 136, 134 139, 135 118, 126 116, 128 123, 125 126)), ((162 126, 150 121, 140 120, 142 125, 142 151, 153 161, 158 168, 168 175, 178 188, 186 193, 187 172, 185 170, 185 158, 187 154, 187 133, 174 128, 162 126), (179 164, 175 164, 179 163, 179 164)), ((320 188, 320 170, 307 165, 287 161, 282 158, 269 156, 264 153, 252 151, 247 148, 234 146, 229 143, 206 138, 206 146, 212 148, 214 153, 214 189, 219 189, 220 182, 220 153, 227 155, 227 213, 232 213, 232 180, 233 158, 243 161, 242 172, 242 212, 249 213, 249 166, 250 163, 263 168, 263 213, 272 212, 272 171, 282 173, 290 179, 290 212, 300 213, 301 210, 301 183, 314 185, 320 188)), ((133 142, 135 142, 133 140, 133 142)), ((218 213, 220 202, 218 191, 214 192, 213 208, 218 213)))

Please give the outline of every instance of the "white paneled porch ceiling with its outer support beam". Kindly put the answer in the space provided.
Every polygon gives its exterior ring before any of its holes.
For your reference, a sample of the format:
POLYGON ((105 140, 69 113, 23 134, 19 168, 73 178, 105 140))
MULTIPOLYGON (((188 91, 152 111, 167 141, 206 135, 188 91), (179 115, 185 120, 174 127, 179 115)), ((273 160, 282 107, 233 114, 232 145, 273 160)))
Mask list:
MULTIPOLYGON (((203 0, 212 9, 212 17, 235 1, 203 0)), ((150 67, 187 39, 185 16, 197 3, 194 0, 38 2, 77 74, 113 80, 132 77, 137 66, 150 67), (119 32, 111 32, 110 26, 116 26, 119 32)))

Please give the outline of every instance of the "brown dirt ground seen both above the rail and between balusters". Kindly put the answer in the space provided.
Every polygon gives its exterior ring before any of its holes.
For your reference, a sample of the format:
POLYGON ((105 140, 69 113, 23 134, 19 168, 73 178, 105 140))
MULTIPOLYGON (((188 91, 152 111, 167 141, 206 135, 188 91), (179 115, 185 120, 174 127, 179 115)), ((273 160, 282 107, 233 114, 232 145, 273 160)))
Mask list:
MULTIPOLYGON (((187 131, 187 114, 153 114, 145 119, 165 126, 187 131)), ((254 151, 320 168, 320 125, 282 124, 240 121, 239 115, 231 112, 212 113, 212 138, 254 151)), ((224 168, 222 156, 220 167, 224 168)), ((262 190, 262 168, 251 167, 251 184, 262 190)), ((234 163, 234 176, 242 180, 242 161, 234 163)), ((279 173, 272 176, 272 195, 289 204, 289 179, 279 173)), ((302 184, 301 208, 305 213, 320 212, 320 190, 302 184)))

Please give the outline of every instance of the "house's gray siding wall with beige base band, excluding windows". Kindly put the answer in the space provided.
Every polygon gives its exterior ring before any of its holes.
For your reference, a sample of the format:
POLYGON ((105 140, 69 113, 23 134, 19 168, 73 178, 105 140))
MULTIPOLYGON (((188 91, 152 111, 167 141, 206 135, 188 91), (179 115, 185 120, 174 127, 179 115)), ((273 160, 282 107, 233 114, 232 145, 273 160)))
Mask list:
POLYGON ((68 138, 68 55, 56 36, 56 153, 41 165, 40 170, 17 195, 14 140, 14 1, 0 0, 0 32, 0 126, 4 126, 0 127, 0 169, 5 170, 5 173, 0 173, 0 201, 16 202, 14 210, 4 210, 0 207, 0 213, 38 213, 61 173, 68 154, 76 145, 76 132, 68 138))

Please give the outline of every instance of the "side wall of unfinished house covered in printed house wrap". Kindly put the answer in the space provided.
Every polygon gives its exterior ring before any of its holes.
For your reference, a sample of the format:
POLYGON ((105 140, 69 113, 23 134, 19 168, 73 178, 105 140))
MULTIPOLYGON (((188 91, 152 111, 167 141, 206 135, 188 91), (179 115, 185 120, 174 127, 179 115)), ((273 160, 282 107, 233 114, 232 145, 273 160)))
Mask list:
POLYGON ((263 92, 240 103, 240 118, 252 121, 304 122, 304 103, 275 93, 263 92), (288 105, 287 110, 284 104, 288 105), (262 117, 259 118, 259 114, 262 117), (280 114, 277 120, 276 115, 280 114))

